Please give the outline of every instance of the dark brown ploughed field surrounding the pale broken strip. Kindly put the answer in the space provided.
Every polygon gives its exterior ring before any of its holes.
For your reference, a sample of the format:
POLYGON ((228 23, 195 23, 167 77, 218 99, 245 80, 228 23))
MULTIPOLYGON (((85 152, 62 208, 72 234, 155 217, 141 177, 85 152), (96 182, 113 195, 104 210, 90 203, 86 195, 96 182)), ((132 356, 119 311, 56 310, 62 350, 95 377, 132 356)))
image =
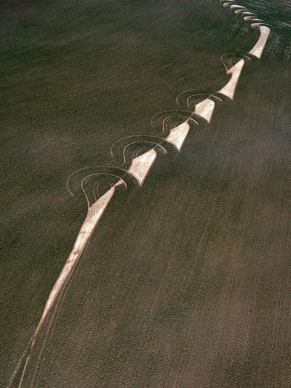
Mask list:
MULTIPOLYGON (((273 25, 262 58, 180 154, 159 153, 141 188, 113 197, 23 387, 35 370, 45 388, 289 386, 291 11, 237 4, 273 25)), ((115 166, 122 137, 159 135, 151 118, 182 91, 219 90, 220 57, 259 32, 210 0, 7 1, 0 13, 0 385, 21 360, 18 386, 87 212, 68 176, 115 166)))

